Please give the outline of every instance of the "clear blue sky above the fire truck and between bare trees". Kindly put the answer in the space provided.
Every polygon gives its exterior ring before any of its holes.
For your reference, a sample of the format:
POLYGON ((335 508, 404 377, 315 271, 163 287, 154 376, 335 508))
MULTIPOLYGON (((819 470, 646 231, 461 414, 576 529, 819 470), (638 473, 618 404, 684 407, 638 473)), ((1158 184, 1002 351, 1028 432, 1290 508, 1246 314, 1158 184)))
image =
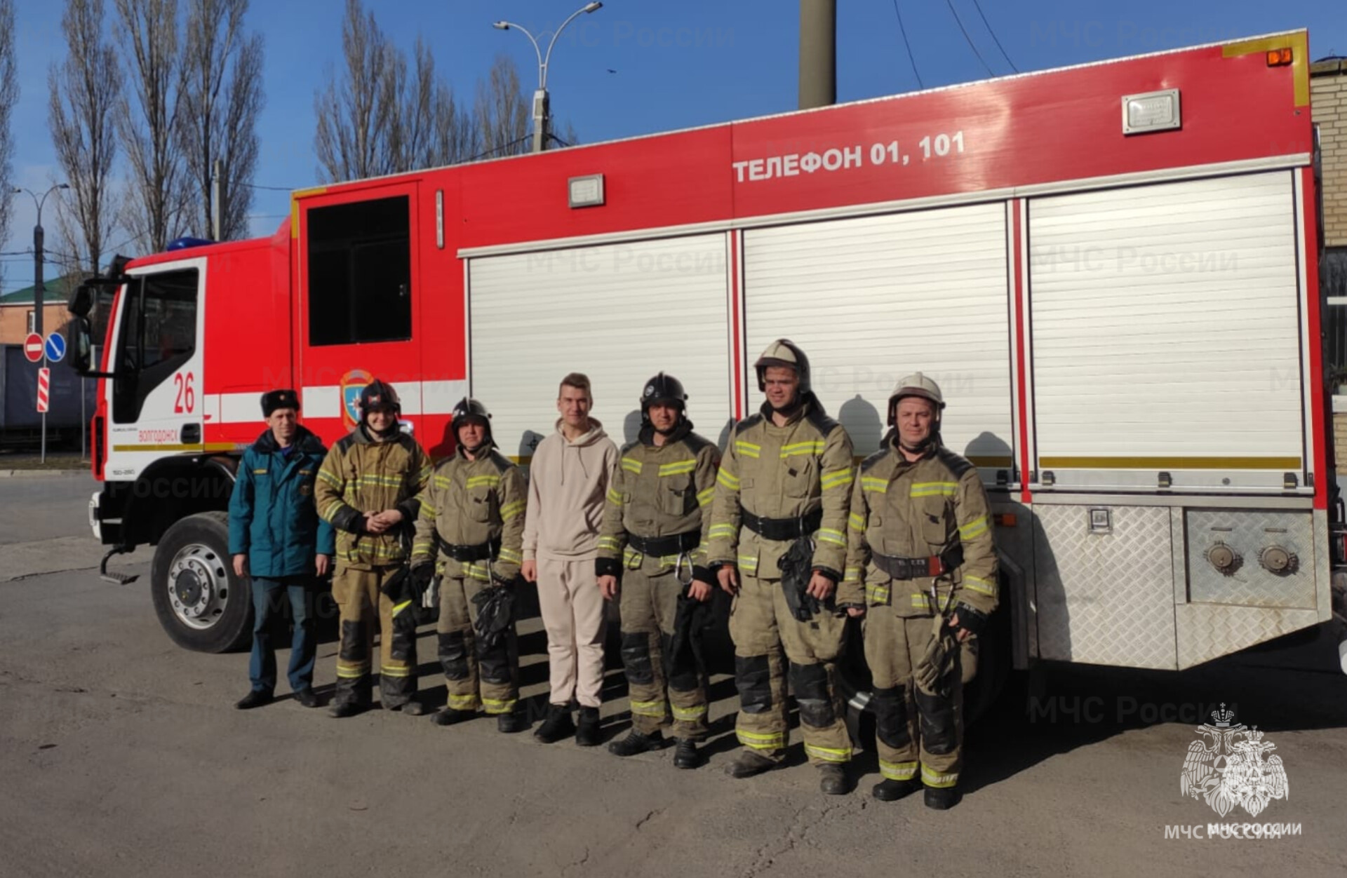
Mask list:
MULTIPOLYGON (((950 3, 993 74, 1012 73, 973 0, 897 0, 917 73, 927 86, 987 77, 959 31, 950 3)), ((979 0, 1005 53, 1022 73, 1136 55, 1237 36, 1309 28, 1313 59, 1347 55, 1342 0, 979 0)), ((18 0, 20 98, 13 116, 15 182, 44 191, 53 182, 47 133, 47 70, 61 61, 59 0, 18 0)), ((106 0, 110 9, 112 0, 106 0)), ((497 53, 511 54, 524 85, 536 85, 528 39, 493 30, 508 19, 543 42, 582 0, 366 0, 380 26, 408 53, 420 34, 439 70, 463 100, 497 53)), ((267 105, 259 120, 261 158, 256 183, 300 189, 317 179, 313 152, 314 92, 341 48, 341 0, 269 0, 252 4, 251 26, 265 40, 267 105)), ((605 0, 560 35, 548 89, 552 112, 594 143, 674 131, 797 106, 797 0, 605 0), (609 73, 616 70, 616 73, 609 73)), ((109 24, 109 31, 114 28, 109 24)), ((894 0, 838 1, 838 101, 916 90, 917 79, 898 32, 894 0)), ((18 195, 9 240, 32 241, 34 205, 18 195)), ((43 211, 53 242, 51 201, 43 211)), ((283 191, 257 191, 252 228, 268 234, 288 209, 283 191)), ((121 237, 113 236, 113 244, 121 237)), ((128 253, 129 255, 129 253, 128 253)), ((4 259, 3 291, 32 281, 31 260, 4 259)), ((48 265, 50 279, 57 267, 48 265)))

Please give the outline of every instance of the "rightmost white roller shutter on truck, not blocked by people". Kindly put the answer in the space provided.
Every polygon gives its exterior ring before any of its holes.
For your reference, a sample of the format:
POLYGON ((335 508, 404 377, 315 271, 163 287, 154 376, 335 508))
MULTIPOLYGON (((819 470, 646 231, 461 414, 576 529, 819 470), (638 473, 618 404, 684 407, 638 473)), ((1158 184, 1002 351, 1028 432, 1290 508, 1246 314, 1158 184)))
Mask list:
POLYGON ((1059 486, 1272 486, 1303 469, 1289 172, 1029 205, 1039 467, 1059 486))

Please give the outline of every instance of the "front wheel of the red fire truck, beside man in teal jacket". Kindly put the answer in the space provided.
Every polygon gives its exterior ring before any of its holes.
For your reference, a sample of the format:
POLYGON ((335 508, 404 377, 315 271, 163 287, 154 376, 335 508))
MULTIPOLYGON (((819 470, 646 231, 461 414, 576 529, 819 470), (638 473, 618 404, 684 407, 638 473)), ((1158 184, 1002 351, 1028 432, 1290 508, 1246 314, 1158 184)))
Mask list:
POLYGON ((170 640, 194 652, 233 652, 252 642, 249 583, 229 558, 229 514, 202 512, 170 527, 150 574, 155 614, 170 640))

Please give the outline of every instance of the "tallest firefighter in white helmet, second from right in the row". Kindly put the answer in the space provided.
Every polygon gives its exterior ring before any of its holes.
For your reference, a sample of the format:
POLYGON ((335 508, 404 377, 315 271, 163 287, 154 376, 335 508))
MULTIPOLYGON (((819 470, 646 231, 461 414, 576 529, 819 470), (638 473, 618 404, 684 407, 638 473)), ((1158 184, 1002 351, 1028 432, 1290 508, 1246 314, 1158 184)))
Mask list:
POLYGON ((832 599, 846 560, 851 438, 823 411, 795 343, 772 342, 754 368, 766 401, 730 432, 709 535, 719 584, 734 595, 735 731, 745 749, 727 772, 750 777, 785 757, 784 648, 804 753, 820 789, 842 795, 851 741, 835 667, 846 614, 832 599))

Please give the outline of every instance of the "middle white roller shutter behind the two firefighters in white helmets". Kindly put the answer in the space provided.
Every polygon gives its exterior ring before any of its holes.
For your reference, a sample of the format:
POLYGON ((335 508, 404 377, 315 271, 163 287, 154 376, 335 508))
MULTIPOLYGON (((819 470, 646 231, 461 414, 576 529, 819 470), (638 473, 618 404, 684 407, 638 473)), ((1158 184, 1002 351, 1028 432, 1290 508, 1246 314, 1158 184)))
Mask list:
POLYGON ((1005 205, 750 229, 744 241, 749 411, 762 403, 753 361, 789 338, 858 455, 888 430, 897 380, 924 372, 948 405, 946 444, 985 478, 1009 470, 1005 205))

